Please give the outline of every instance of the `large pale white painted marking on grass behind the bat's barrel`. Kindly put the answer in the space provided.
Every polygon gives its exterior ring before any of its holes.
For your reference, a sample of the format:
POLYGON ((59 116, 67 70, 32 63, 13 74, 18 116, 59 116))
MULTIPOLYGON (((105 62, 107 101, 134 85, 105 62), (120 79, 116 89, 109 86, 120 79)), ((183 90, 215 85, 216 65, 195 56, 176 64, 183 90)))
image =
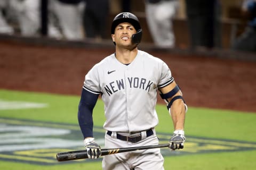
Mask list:
MULTIPOLYGON (((4 151, 81 147, 83 140, 61 139, 68 129, 13 126, 0 123, 0 153, 4 151), (52 138, 54 136, 55 138, 52 138)), ((98 140, 103 145, 104 139, 98 140)))

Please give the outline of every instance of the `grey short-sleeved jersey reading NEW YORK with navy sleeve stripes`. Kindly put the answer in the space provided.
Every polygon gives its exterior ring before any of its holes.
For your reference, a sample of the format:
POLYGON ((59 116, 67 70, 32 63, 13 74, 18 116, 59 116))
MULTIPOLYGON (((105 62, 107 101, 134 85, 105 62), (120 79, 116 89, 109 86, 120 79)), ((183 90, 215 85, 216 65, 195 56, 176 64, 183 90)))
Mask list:
POLYGON ((138 50, 129 65, 115 54, 107 56, 85 75, 84 87, 101 94, 105 104, 103 128, 114 132, 138 132, 158 124, 157 88, 173 82, 166 63, 138 50))

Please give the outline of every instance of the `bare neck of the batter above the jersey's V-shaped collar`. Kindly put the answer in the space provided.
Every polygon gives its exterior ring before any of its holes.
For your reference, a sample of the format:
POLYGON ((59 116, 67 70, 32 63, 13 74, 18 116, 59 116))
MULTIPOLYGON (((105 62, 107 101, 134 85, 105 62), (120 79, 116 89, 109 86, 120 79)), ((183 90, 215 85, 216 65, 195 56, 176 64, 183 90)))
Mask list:
POLYGON ((137 48, 134 48, 133 50, 116 49, 116 53, 115 53, 117 60, 123 64, 131 63, 134 60, 134 58, 137 56, 137 54, 138 54, 137 48))

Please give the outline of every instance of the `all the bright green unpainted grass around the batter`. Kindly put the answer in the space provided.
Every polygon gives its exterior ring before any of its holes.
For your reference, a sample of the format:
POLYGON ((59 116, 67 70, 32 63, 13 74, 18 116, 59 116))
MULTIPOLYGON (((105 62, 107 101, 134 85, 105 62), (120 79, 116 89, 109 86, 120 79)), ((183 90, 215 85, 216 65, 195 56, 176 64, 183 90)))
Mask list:
MULTIPOLYGON (((19 110, 0 110, 0 118, 20 118, 77 125, 79 96, 64 96, 0 90, 0 100, 46 103, 49 107, 19 110)), ((172 120, 166 106, 157 105, 159 125, 157 132, 173 132, 172 120)), ((99 99, 94 109, 94 125, 102 126, 105 117, 103 103, 99 99)), ((189 107, 186 115, 187 136, 213 139, 230 139, 256 142, 255 113, 227 111, 221 109, 189 107)), ((186 142, 185 142, 186 149, 186 142)), ((165 157, 165 169, 254 169, 256 150, 218 152, 165 157)), ((101 169, 101 162, 78 162, 76 164, 33 165, 0 161, 0 169, 101 169)))

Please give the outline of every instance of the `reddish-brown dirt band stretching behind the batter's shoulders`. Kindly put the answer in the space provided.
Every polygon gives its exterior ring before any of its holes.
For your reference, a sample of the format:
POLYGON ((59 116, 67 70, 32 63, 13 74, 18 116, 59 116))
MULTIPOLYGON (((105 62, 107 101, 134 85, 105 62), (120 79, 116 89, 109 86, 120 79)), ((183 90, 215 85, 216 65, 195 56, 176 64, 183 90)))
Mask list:
MULTIPOLYGON (((80 95, 86 72, 113 52, 114 46, 33 46, 0 40, 0 88, 80 95)), ((256 112, 256 62, 149 53, 170 66, 188 106, 256 112)))

